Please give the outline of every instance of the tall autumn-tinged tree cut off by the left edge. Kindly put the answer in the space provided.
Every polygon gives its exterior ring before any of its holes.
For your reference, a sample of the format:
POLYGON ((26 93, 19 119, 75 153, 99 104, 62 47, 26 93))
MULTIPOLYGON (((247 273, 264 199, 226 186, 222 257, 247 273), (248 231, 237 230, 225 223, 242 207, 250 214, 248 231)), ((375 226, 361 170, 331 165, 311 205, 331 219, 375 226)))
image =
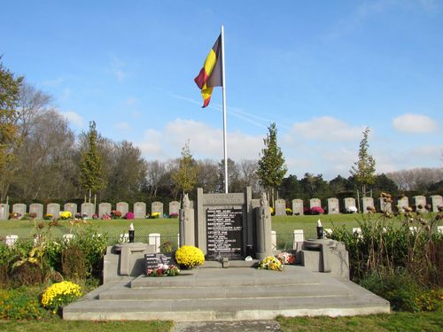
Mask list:
POLYGON ((19 143, 16 124, 23 77, 14 77, 0 57, 0 202, 6 197, 14 167, 14 147, 19 143))

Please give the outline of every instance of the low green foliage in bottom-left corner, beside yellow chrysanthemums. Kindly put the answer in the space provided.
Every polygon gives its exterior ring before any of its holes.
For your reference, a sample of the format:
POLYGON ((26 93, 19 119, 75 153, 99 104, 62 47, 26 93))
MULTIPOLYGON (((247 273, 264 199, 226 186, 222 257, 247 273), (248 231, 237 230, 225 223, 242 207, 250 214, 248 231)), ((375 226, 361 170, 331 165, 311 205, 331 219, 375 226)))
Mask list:
POLYGON ((40 320, 45 311, 28 288, 0 289, 0 320, 40 320))

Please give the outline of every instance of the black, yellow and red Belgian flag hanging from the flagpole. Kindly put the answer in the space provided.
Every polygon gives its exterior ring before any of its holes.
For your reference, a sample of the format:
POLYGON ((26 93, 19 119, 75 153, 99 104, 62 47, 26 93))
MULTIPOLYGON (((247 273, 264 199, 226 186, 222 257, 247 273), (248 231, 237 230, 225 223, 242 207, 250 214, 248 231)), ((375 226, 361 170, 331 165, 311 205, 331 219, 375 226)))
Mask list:
POLYGON ((201 89, 203 108, 209 104, 213 88, 222 86, 221 69, 221 35, 219 35, 206 57, 203 68, 201 68, 200 73, 194 79, 198 88, 201 89))

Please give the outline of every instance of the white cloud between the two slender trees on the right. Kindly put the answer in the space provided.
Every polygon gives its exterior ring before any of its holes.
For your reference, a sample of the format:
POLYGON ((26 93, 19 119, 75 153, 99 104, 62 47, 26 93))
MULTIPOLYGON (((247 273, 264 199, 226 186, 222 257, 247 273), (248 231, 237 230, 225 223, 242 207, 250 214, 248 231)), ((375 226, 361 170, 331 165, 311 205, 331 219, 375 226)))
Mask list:
POLYGON ((292 135, 325 142, 355 141, 361 137, 363 127, 350 127, 345 122, 329 116, 295 123, 292 135))

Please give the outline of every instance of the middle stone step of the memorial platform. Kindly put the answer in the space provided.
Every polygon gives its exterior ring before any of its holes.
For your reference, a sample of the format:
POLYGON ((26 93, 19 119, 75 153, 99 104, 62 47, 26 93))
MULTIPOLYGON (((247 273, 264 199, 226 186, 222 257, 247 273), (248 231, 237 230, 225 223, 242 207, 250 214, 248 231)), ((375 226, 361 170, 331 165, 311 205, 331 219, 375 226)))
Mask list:
POLYGON ((99 299, 158 300, 206 298, 271 298, 271 297, 336 297, 350 296, 353 292, 341 283, 290 284, 266 286, 168 287, 168 288, 115 288, 99 295, 99 299))

